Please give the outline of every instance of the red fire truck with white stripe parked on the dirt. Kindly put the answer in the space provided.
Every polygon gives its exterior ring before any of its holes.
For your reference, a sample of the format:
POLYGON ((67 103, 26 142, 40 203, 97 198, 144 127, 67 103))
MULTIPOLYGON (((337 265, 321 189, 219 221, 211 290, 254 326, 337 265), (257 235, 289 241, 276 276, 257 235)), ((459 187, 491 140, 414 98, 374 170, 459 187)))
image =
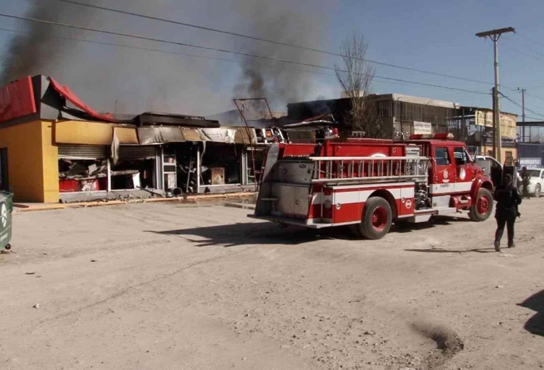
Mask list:
POLYGON ((465 143, 447 134, 279 143, 268 149, 252 217, 313 228, 351 225, 356 235, 379 239, 393 222, 433 215, 468 211, 484 221, 492 189, 465 143))

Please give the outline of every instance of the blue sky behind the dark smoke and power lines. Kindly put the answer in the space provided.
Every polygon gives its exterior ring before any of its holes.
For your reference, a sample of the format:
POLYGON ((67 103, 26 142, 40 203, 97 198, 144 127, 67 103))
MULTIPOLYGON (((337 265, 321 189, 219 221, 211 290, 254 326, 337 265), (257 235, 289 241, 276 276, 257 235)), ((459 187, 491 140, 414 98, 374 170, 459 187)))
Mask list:
MULTIPOLYGON (((42 0, 53 1, 54 0, 42 0)), ((84 0, 89 3, 101 3, 100 1, 84 0)), ((180 21, 198 23, 232 32, 254 32, 252 22, 255 17, 251 11, 240 16, 234 14, 233 4, 242 0, 200 2, 178 2, 174 0, 161 0, 160 6, 147 7, 135 4, 131 1, 102 2, 107 6, 125 10, 141 11, 141 13, 152 14, 159 17, 168 17, 180 21), (189 5, 190 3, 190 5, 189 5)), ((30 0, 0 0, 0 11, 4 13, 23 15, 28 9, 30 0)), ((141 3, 141 1, 140 1, 141 3)), ((257 2, 255 2, 257 4, 257 2)), ((252 8, 251 1, 245 0, 245 8, 252 8)), ((287 21, 293 23, 289 28, 293 34, 289 40, 296 40, 299 44, 316 47, 324 50, 338 51, 338 45, 354 30, 364 34, 369 42, 368 58, 413 67, 421 70, 429 70, 439 73, 447 73, 470 79, 477 79, 489 82, 480 84, 458 79, 450 79, 439 76, 430 76, 423 73, 394 69, 378 65, 376 75, 392 78, 418 81, 422 83, 444 85, 447 87, 489 91, 492 87, 492 42, 487 39, 477 38, 474 34, 492 28, 512 26, 516 28, 517 34, 503 35, 499 40, 499 71, 502 91, 512 100, 521 103, 521 94, 516 91, 519 88, 527 89, 526 107, 536 113, 527 112, 528 116, 542 118, 537 113, 544 115, 544 33, 541 30, 541 19, 544 14, 544 2, 541 0, 528 1, 325 1, 325 0, 301 0, 292 3, 293 12, 298 12, 306 17, 315 19, 311 26, 316 32, 309 38, 298 38, 296 22, 298 18, 288 17, 287 21)), ((73 5, 65 5, 67 7, 73 5)), ((256 5, 255 5, 256 6, 256 5)), ((260 6, 260 5, 259 5, 260 6)), ((244 9, 246 11, 246 9, 244 9)), ((96 18, 89 20, 90 25, 100 24, 101 28, 139 33, 150 36, 158 36, 180 41, 191 41, 201 45, 224 47, 237 50, 245 50, 250 47, 253 41, 240 40, 231 36, 206 33, 191 30, 180 26, 158 24, 151 21, 131 20, 127 16, 117 14, 104 14, 97 11, 96 18), (98 22, 98 23, 96 23, 98 22), (249 45, 249 46, 248 46, 249 45)), ((287 13, 288 14, 288 13, 287 13)), ((76 20, 66 18, 66 22, 76 23, 76 20)), ((306 23, 305 23, 306 24, 306 23)), ((24 29, 22 21, 7 20, 2 18, 2 27, 11 29, 24 29)), ((63 30, 63 35, 72 35, 69 30, 63 30)), ((258 33, 258 32, 257 32, 258 33)), ((78 33, 79 37, 91 40, 119 42, 135 46, 160 48, 162 50, 174 50, 170 45, 162 45, 156 42, 144 42, 138 40, 127 40, 117 36, 107 36, 94 33, 78 33)), ((0 63, 1 55, 4 54, 8 45, 10 33, 0 32, 0 63)), ((271 37, 267 34, 267 37, 271 37)), ((302 36, 301 36, 302 37, 302 36)), ((101 71, 122 68, 123 64, 132 63, 131 69, 119 71, 124 73, 126 83, 116 82, 110 86, 115 94, 126 98, 123 104, 128 110, 146 109, 170 109, 173 111, 183 110, 178 113, 208 114, 232 108, 230 98, 232 90, 237 84, 240 76, 240 65, 225 61, 213 61, 199 58, 182 58, 176 55, 168 55, 168 60, 159 59, 164 55, 160 53, 125 50, 120 48, 75 43, 73 52, 70 54, 86 55, 86 58, 98 58, 100 61, 96 67, 89 65, 81 66, 78 69, 77 59, 70 63, 70 68, 61 72, 61 82, 69 84, 72 89, 78 92, 90 104, 98 109, 107 110, 112 106, 111 96, 98 96, 85 91, 81 84, 93 81, 96 77, 86 76, 85 73, 100 75, 101 71), (114 50, 115 49, 115 50, 114 50), (159 55, 157 55, 159 54, 159 55), (126 61, 119 64, 114 61, 126 61), (137 62, 136 62, 137 60, 137 62), (163 75, 156 75, 157 66, 164 71, 180 77, 176 87, 162 88, 161 83, 166 83, 163 75), (79 77, 76 77, 79 76, 79 77), (164 82, 162 82, 164 81, 164 82), (187 81, 187 84, 183 82, 187 81), (206 89, 194 90, 199 83, 208 85, 206 89), (138 90, 138 85, 153 85, 155 96, 168 97, 168 107, 150 101, 144 92, 138 90), (172 91, 176 89, 174 99, 171 99, 172 91), (129 97, 131 97, 129 99, 129 97), (141 98, 141 102, 134 103, 135 97, 141 98), (177 103, 177 100, 180 103, 177 103), (201 113, 202 101, 208 101, 213 107, 208 112, 201 113), (139 104, 139 105, 138 105, 139 104), (141 109, 140 109, 141 106, 141 109)), ((177 52, 189 52, 210 57, 228 59, 240 59, 234 55, 217 52, 203 52, 191 50, 191 48, 175 48, 177 52)), ((289 52, 281 47, 259 45, 261 54, 270 52, 270 55, 277 57, 288 57, 289 52), (287 55, 287 56, 286 56, 287 55)), ((67 55, 70 60, 72 55, 67 55)), ((305 53, 300 57, 307 63, 332 66, 335 58, 318 54, 305 53)), ((1 67, 1 64, 0 64, 1 67)), ((292 66, 288 66, 292 68, 292 66)), ((287 67, 286 67, 287 68, 287 67)), ((300 67, 304 70, 313 70, 308 67, 300 67)), ((115 71, 113 71, 115 72, 115 71)), ((113 73, 109 71, 109 73, 113 73)), ((330 73, 330 71, 324 71, 330 73)), ((311 79, 310 87, 306 98, 324 96, 327 98, 339 95, 338 83, 333 76, 304 73, 306 78, 311 79)), ((100 79, 100 78, 98 78, 100 79)), ((108 82, 111 78, 104 78, 96 89, 108 89, 108 82)), ((472 94, 468 92, 453 91, 422 87, 412 84, 398 82, 385 82, 375 79, 373 89, 378 93, 398 92, 416 96, 437 98, 441 100, 455 101, 469 106, 491 106, 491 97, 488 95, 472 94)), ((106 94, 107 95, 107 94, 106 94)), ((117 96, 116 95, 116 96, 117 96)), ((502 110, 514 113, 521 113, 517 107, 505 99, 501 100, 502 110)))

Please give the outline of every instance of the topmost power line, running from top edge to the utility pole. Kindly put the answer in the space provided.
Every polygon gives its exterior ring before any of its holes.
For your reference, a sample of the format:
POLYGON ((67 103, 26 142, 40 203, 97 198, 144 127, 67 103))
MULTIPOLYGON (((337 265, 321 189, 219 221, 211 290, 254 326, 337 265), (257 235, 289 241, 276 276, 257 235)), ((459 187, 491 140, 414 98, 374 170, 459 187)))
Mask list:
MULTIPOLYGON (((132 11, 127 11, 127 10, 120 10, 120 9, 107 8, 107 7, 100 7, 100 6, 98 6, 98 5, 86 4, 86 3, 81 3, 81 2, 73 1, 73 0, 59 0, 59 1, 60 1, 60 2, 63 2, 63 3, 69 3, 69 4, 74 4, 74 5, 80 5, 80 6, 82 6, 82 7, 88 7, 88 8, 94 8, 94 9, 112 11, 112 12, 114 12, 114 13, 125 14, 125 15, 131 15, 131 16, 140 17, 140 18, 146 18, 146 19, 150 19, 150 20, 154 20, 154 21, 161 21, 161 22, 166 22, 166 23, 178 24, 178 25, 180 25, 180 26, 187 26, 187 27, 193 27, 193 28, 197 28, 197 29, 203 29, 203 30, 207 30, 207 31, 211 31, 211 32, 217 32, 217 33, 222 33, 222 34, 226 34, 226 35, 237 36, 237 37, 240 37, 240 38, 245 38, 245 39, 250 39, 250 40, 255 40, 255 41, 269 42, 270 44, 275 44, 275 45, 281 45, 281 46, 288 46, 288 47, 299 48, 299 49, 301 49, 301 50, 307 50, 307 51, 312 51, 312 52, 316 52, 316 53, 323 53, 323 54, 327 54, 327 55, 333 55, 333 56, 335 56, 335 57, 345 57, 345 56, 346 56, 346 55, 344 55, 344 54, 335 53, 335 52, 331 52, 331 51, 326 51, 326 50, 322 50, 322 49, 318 49, 318 48, 307 47, 307 46, 302 46, 302 45, 298 45, 298 44, 290 44, 290 43, 288 43, 288 42, 282 42, 282 41, 275 41, 275 40, 270 40, 270 39, 264 39, 264 38, 259 38, 259 37, 256 37, 256 36, 251 36, 251 35, 246 35, 246 34, 241 34, 241 33, 230 32, 230 31, 226 31, 226 30, 222 30, 222 29, 217 29, 217 28, 199 26, 198 24, 194 24, 194 23, 173 21, 173 20, 169 20, 169 19, 166 19, 166 18, 159 18, 159 17, 149 16, 149 15, 140 14, 140 13, 133 13, 132 11)), ((471 78, 465 78, 465 77, 460 77, 460 76, 454 76, 454 75, 449 75, 449 74, 447 74, 447 73, 439 73, 439 72, 425 71, 425 70, 416 69, 416 68, 412 68, 412 67, 401 66, 401 65, 398 65, 398 64, 385 63, 385 62, 378 61, 378 60, 372 60, 372 59, 360 59, 360 58, 357 58, 357 59, 358 59, 358 60, 364 60, 364 61, 367 61, 368 63, 372 63, 372 64, 378 64, 378 65, 383 65, 383 66, 387 66, 387 67, 393 67, 393 68, 403 69, 403 70, 407 70, 407 71, 413 71, 413 72, 419 72, 419 73, 426 73, 426 74, 428 74, 428 75, 441 76, 441 77, 446 77, 446 78, 454 78, 454 79, 459 79, 459 80, 462 80, 462 81, 475 82, 475 83, 481 83, 481 84, 487 84, 487 85, 491 85, 491 84, 492 84, 491 82, 480 81, 480 80, 477 80, 477 79, 471 79, 471 78)))

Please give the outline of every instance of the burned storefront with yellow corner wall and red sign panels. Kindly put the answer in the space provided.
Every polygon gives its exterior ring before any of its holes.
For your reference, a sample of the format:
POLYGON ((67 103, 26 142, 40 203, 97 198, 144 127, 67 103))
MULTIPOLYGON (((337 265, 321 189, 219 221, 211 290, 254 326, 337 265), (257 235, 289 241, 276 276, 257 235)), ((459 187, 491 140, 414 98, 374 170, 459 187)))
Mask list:
POLYGON ((0 90, 2 188, 58 202, 254 188, 250 127, 165 113, 98 113, 52 77, 0 90))

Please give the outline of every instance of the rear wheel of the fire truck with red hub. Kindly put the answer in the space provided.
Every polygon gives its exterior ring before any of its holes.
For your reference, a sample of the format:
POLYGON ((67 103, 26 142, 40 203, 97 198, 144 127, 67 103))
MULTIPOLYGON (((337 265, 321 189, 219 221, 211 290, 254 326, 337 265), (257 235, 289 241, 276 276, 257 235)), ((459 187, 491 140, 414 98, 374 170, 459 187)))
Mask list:
POLYGON ((354 225, 355 234, 366 239, 381 239, 391 229, 392 219, 389 202, 372 196, 364 204, 361 223, 354 225))

